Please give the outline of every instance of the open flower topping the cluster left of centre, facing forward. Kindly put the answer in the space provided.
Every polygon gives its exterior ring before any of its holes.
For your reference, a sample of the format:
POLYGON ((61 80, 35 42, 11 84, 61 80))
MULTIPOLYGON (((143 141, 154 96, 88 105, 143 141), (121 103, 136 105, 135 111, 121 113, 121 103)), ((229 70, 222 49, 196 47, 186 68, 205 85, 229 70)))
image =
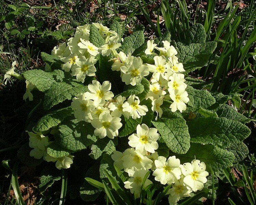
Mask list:
POLYGON ((110 91, 111 83, 104 81, 102 85, 99 81, 93 80, 92 84, 88 85, 90 92, 86 92, 86 99, 93 100, 95 107, 104 105, 105 100, 109 100, 114 97, 114 94, 110 91))

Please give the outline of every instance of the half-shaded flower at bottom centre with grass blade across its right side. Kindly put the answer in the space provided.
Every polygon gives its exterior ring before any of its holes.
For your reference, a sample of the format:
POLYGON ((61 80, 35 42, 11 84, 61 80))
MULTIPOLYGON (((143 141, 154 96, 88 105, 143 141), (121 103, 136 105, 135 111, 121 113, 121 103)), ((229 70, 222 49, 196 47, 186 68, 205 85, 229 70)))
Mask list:
POLYGON ((148 170, 145 168, 137 169, 136 167, 132 167, 128 171, 129 177, 131 178, 124 182, 125 188, 130 189, 132 194, 135 193, 136 198, 140 196, 140 192, 143 188, 147 187, 149 184, 152 184, 152 181, 147 178, 142 187, 142 181, 147 172, 148 170))

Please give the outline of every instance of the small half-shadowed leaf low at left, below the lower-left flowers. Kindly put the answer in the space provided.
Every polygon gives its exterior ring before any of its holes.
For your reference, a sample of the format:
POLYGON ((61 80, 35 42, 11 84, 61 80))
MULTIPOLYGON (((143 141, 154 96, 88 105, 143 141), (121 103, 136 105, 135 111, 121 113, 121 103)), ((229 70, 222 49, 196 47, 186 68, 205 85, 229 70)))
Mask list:
POLYGON ((55 163, 49 163, 42 170, 40 177, 38 188, 40 192, 44 192, 47 188, 51 187, 54 181, 61 179, 61 171, 55 167, 55 163))

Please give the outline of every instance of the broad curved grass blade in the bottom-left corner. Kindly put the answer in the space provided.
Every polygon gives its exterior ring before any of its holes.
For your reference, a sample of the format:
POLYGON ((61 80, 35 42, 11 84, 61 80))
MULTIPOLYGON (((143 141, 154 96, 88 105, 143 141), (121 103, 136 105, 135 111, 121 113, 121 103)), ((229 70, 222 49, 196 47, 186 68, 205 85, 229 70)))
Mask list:
POLYGON ((12 188, 16 197, 16 202, 18 202, 19 205, 25 205, 23 197, 21 195, 20 186, 18 183, 18 161, 14 164, 12 169, 12 188))

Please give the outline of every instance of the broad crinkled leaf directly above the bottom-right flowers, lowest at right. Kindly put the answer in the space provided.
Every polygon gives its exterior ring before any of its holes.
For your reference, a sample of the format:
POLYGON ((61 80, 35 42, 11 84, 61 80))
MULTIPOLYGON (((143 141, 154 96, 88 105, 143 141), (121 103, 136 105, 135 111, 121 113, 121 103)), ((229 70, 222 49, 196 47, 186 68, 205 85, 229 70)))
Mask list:
POLYGON ((214 172, 221 171, 223 168, 232 166, 234 154, 228 150, 221 149, 213 145, 201 145, 199 143, 190 143, 189 151, 184 155, 176 154, 181 164, 191 162, 196 159, 206 164, 206 170, 209 171, 210 165, 214 172))

